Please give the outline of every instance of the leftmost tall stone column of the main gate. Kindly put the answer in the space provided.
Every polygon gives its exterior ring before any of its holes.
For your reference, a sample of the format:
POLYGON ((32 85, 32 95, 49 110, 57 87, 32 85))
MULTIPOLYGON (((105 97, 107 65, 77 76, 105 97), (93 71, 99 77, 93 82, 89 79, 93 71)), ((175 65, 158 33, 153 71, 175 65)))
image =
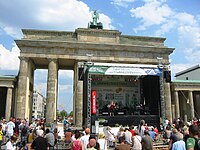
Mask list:
POLYGON ((16 100, 16 118, 27 118, 26 109, 28 103, 28 90, 29 90, 29 78, 28 78, 28 64, 29 59, 25 57, 20 58, 20 70, 18 78, 17 100, 16 100))

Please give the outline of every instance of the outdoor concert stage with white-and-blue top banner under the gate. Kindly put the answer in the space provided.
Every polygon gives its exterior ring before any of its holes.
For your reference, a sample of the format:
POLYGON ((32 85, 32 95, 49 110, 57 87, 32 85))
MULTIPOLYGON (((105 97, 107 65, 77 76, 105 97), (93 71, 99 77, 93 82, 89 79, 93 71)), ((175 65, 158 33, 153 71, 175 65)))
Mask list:
POLYGON ((159 127, 161 101, 158 68, 94 66, 89 73, 90 79, 86 78, 85 81, 91 82, 86 82, 84 93, 91 91, 91 95, 88 98, 85 94, 83 103, 84 117, 91 120, 89 124, 95 125, 95 121, 100 121, 100 125, 105 126, 137 126, 143 119, 148 125, 159 127), (107 73, 112 69, 122 70, 124 75, 90 72, 100 69, 107 69, 107 73), (124 69, 127 69, 127 73, 133 71, 133 75, 126 74, 124 69), (86 113, 88 107, 91 116, 86 113))

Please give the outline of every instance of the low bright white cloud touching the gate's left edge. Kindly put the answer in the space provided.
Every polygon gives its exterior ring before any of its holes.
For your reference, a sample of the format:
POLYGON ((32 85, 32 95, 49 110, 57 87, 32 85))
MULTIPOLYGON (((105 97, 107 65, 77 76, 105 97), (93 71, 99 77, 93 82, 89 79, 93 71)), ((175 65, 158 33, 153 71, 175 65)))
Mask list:
POLYGON ((16 45, 10 51, 0 44, 0 69, 18 70, 19 53, 20 50, 16 45))

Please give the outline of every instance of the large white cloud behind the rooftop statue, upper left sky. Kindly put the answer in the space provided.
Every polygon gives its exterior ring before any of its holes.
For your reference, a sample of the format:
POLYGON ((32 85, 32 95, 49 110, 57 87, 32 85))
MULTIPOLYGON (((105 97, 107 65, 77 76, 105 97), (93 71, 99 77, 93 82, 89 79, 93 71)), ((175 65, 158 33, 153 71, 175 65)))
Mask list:
MULTIPOLYGON (((0 8, 0 28, 13 37, 21 28, 74 30, 92 21, 90 8, 79 0, 6 0, 0 8)), ((100 14, 100 19, 106 29, 112 27, 108 16, 100 14)))

